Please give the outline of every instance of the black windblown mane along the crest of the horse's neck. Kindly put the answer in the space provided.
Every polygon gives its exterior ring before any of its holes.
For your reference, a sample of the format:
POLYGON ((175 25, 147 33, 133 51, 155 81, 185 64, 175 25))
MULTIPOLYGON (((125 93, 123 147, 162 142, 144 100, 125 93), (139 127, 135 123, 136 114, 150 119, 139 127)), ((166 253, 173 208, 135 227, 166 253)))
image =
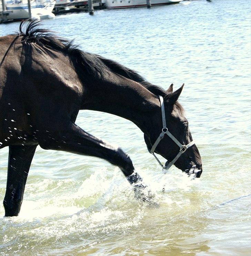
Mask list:
MULTIPOLYGON (((48 29, 41 29, 40 26, 41 23, 37 19, 32 21, 22 21, 19 26, 19 33, 14 34, 17 37, 13 40, 13 42, 15 43, 17 39, 21 37, 21 42, 23 44, 35 43, 36 45, 47 50, 49 49, 58 51, 68 55, 75 69, 77 65, 80 64, 88 74, 94 76, 102 76, 102 73, 104 72, 103 70, 108 69, 113 73, 119 74, 140 83, 142 86, 144 86, 144 88, 148 89, 154 95, 161 95, 164 98, 170 95, 170 93, 158 85, 154 85, 146 81, 134 70, 131 70, 130 68, 127 68, 116 61, 109 60, 100 55, 83 52, 79 49, 78 45, 73 44, 73 40, 59 37, 53 31, 48 29), (29 23, 26 27, 26 30, 23 31, 23 26, 27 21, 29 23)), ((12 45, 13 44, 11 44, 11 46, 12 45)), ((176 102, 176 105, 178 109, 183 112, 183 108, 178 102, 176 102)))

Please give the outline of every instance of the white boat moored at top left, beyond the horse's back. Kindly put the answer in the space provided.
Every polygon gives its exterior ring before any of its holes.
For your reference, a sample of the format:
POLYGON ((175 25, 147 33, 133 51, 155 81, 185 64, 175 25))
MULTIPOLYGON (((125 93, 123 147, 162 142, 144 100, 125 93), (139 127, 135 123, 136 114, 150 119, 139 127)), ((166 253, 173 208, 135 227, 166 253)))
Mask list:
MULTIPOLYGON (((55 15, 52 13, 56 1, 54 0, 31 0, 31 18, 52 19, 55 15)), ((22 20, 29 18, 29 9, 27 0, 5 1, 6 10, 9 11, 8 20, 22 20)))

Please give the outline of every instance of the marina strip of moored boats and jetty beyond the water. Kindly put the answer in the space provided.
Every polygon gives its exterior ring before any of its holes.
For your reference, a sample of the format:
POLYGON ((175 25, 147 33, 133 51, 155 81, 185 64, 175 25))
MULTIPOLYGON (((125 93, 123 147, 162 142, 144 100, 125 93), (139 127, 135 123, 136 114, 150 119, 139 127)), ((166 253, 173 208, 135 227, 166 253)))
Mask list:
MULTIPOLYGON (((53 19, 55 15, 89 12, 94 9, 118 9, 175 4, 183 0, 1 0, 0 23, 22 19, 53 19)), ((211 0, 207 0, 211 1, 211 0)))

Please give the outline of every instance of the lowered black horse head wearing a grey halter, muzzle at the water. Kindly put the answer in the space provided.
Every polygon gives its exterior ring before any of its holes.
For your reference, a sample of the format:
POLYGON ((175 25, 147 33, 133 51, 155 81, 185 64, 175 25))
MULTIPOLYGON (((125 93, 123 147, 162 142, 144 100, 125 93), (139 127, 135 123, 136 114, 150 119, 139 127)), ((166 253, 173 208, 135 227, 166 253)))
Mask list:
MULTIPOLYGON (((193 142, 184 110, 177 101, 183 86, 184 84, 173 92, 173 84, 171 84, 165 95, 160 96, 161 109, 154 116, 154 125, 148 134, 144 134, 144 139, 150 153, 157 153, 167 159, 164 168, 174 164, 183 172, 195 173, 196 177, 200 177, 202 173, 200 153, 193 142)), ((159 162, 156 156, 155 158, 159 162)))

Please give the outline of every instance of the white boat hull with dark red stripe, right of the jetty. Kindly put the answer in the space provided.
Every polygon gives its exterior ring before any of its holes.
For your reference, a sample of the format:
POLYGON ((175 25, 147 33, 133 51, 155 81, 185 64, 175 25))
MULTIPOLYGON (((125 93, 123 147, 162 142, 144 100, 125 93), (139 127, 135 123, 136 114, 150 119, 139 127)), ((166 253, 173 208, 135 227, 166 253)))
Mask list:
MULTIPOLYGON (((183 0, 151 0, 152 6, 179 3, 183 0)), ((147 0, 102 0, 107 9, 120 9, 147 6, 147 0)))

